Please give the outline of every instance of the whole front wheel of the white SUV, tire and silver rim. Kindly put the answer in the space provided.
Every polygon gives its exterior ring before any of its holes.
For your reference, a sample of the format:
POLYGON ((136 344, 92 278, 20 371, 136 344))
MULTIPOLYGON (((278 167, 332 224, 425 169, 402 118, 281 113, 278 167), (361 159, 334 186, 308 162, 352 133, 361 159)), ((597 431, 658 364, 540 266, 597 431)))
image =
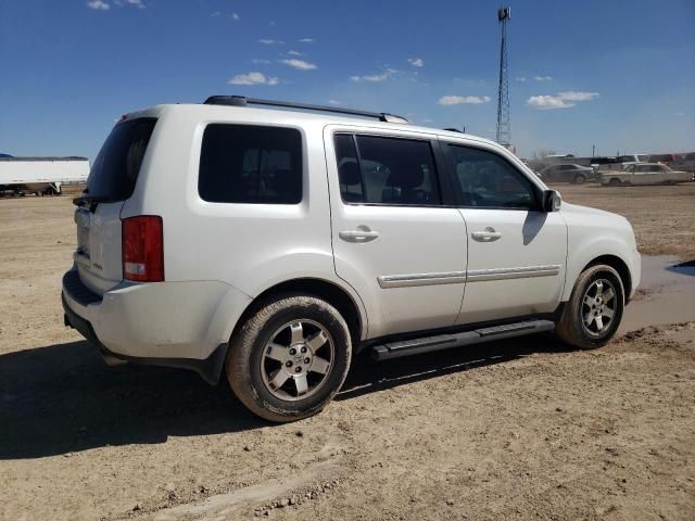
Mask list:
POLYGON ((557 322, 557 334, 574 347, 601 347, 616 334, 623 309, 624 288, 620 275, 604 264, 591 266, 577 279, 557 322))

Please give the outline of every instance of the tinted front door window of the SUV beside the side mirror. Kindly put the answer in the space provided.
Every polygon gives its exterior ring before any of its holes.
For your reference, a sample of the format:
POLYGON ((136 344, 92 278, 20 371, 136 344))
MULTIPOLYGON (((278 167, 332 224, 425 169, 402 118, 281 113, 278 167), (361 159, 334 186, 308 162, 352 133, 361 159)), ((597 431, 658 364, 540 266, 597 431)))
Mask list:
POLYGON ((531 181, 497 154, 450 144, 455 180, 464 206, 535 209, 531 181))

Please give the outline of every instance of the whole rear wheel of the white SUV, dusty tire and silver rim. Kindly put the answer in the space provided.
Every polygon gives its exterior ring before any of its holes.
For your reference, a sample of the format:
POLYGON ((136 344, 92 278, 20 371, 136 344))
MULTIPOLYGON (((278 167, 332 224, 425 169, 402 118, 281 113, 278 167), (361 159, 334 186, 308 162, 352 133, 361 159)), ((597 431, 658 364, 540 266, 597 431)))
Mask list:
POLYGON ((333 306, 315 296, 286 296, 258 309, 232 336, 227 379, 252 412, 294 421, 328 405, 351 355, 350 330, 333 306))

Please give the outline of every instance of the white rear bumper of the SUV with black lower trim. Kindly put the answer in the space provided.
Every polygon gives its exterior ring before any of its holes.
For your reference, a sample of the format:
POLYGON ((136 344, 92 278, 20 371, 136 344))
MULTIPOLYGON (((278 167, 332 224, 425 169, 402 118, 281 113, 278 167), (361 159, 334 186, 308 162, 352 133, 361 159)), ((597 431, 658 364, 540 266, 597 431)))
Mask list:
POLYGON ((66 322, 105 356, 192 369, 216 382, 250 298, 215 281, 123 283, 98 295, 72 269, 62 301, 66 322))

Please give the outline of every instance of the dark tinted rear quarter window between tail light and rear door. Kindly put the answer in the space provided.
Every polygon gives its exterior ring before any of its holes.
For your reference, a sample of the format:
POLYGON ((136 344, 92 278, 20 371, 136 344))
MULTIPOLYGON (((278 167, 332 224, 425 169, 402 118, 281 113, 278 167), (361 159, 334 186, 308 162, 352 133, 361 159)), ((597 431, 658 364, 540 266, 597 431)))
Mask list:
POLYGON ((302 136, 293 128, 213 124, 205 128, 198 192, 213 203, 296 204, 302 136))

